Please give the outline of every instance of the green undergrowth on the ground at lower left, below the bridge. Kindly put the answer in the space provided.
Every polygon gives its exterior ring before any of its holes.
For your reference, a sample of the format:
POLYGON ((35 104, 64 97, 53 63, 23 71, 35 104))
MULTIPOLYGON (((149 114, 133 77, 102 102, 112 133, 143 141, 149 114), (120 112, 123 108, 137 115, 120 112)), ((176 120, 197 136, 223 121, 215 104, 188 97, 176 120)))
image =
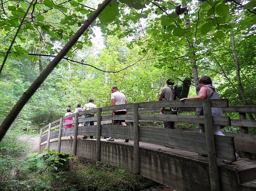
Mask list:
POLYGON ((0 190, 138 190, 154 181, 134 173, 93 160, 69 159, 69 168, 62 168, 67 153, 49 151, 28 153, 27 142, 8 134, 0 143, 0 190))

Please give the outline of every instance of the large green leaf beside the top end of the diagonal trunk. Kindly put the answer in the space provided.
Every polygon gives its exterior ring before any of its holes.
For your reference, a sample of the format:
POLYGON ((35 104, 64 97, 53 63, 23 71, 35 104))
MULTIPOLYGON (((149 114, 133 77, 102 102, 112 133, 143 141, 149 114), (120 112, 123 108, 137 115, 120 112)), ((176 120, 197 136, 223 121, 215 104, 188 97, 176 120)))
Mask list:
POLYGON ((119 14, 118 5, 116 3, 107 5, 106 8, 99 14, 99 20, 101 23, 106 23, 114 20, 119 14))

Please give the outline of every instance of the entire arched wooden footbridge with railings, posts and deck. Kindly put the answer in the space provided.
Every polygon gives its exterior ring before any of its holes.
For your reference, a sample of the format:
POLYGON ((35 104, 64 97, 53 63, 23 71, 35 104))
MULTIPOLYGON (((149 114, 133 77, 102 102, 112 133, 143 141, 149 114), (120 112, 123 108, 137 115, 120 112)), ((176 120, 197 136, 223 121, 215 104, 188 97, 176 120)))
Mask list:
POLYGON ((39 151, 54 149, 98 160, 139 173, 178 191, 251 191, 256 190, 256 161, 250 160, 251 155, 256 153, 256 135, 248 134, 248 127, 254 130, 256 121, 246 120, 246 113, 256 113, 256 107, 229 107, 227 99, 173 100, 102 107, 60 118, 43 127, 39 151), (161 107, 177 107, 183 112, 179 115, 160 115, 161 107), (203 107, 204 116, 194 115, 196 107, 203 107), (212 117, 211 107, 221 107, 226 116, 212 117), (129 109, 129 114, 107 115, 113 109, 121 108, 129 109), (96 117, 78 118, 78 115, 92 112, 96 113, 96 117), (239 119, 227 117, 229 114, 239 119), (69 117, 75 120, 63 123, 69 117), (128 125, 111 125, 111 120, 126 120, 128 125), (78 123, 84 121, 96 121, 97 125, 78 127, 78 123), (154 122, 152 124, 175 121, 180 128, 142 126, 144 121, 154 122), (73 139, 66 139, 63 126, 70 123, 74 123, 74 127, 70 128, 68 136, 73 139), (206 133, 182 128, 183 123, 204 123, 206 133), (227 129, 230 126, 241 127, 241 133, 214 135, 213 125, 225 125, 227 129), (77 138, 84 135, 92 135, 96 139, 77 138), (110 136, 115 137, 115 141, 103 139, 110 136), (124 142, 124 139, 130 141, 124 142), (246 159, 236 161, 236 151, 243 151, 246 159))

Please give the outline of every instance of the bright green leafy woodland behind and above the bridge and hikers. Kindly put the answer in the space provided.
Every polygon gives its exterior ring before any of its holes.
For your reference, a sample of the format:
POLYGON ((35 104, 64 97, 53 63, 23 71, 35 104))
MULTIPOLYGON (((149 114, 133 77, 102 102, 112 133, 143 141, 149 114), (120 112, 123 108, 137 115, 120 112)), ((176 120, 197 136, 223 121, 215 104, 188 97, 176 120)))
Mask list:
MULTIPOLYGON (((102 1, 3 0, 0 122, 102 1)), ((230 105, 256 102, 254 0, 112 0, 23 107, 14 128, 43 126, 90 98, 156 101, 168 78, 206 74, 230 105)), ((255 116, 251 115, 253 119, 255 116)), ((32 128, 33 129, 33 128, 32 128)))

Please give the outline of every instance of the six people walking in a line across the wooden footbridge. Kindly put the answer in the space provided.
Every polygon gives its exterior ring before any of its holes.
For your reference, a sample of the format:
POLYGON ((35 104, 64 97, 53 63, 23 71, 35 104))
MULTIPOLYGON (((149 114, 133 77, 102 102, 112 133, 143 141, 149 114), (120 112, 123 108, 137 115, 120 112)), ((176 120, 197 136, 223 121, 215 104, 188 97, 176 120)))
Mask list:
MULTIPOLYGON (((164 101, 164 100, 174 100, 175 98, 175 91, 174 91, 174 81, 172 79, 167 79, 166 81, 167 86, 164 87, 162 89, 162 91, 159 93, 159 101, 164 101)), ((183 100, 192 100, 192 99, 218 99, 219 95, 216 92, 215 87, 212 85, 212 80, 209 76, 202 76, 199 79, 199 86, 200 91, 198 92, 198 95, 195 97, 185 97, 185 98, 181 98, 180 101, 183 100)), ((121 105, 121 104, 127 104, 127 99, 126 96, 119 92, 117 86, 113 86, 111 87, 111 105, 121 105)), ((91 110, 97 108, 97 106, 94 104, 94 100, 90 99, 88 104, 85 104, 83 108, 81 108, 81 104, 77 105, 77 108, 75 109, 75 112, 81 112, 81 111, 86 111, 86 110, 91 110)), ((126 115, 127 114, 127 109, 120 109, 120 110, 112 110, 112 115, 126 115)), ((67 113, 65 114, 65 116, 67 115, 71 115, 71 110, 70 108, 67 109, 67 113)), ((171 107, 164 107, 160 109, 160 114, 174 114, 177 115, 177 111, 172 110, 171 107)), ((223 113, 221 111, 221 108, 216 108, 213 107, 211 108, 211 114, 212 116, 223 116, 223 113)), ((203 115, 202 110, 197 109, 196 115, 203 115)), ((94 113, 89 113, 85 115, 85 118, 88 117, 94 117, 94 113)), ((79 116, 78 118, 83 118, 83 116, 79 116)), ((64 120, 63 122, 68 122, 74 120, 74 118, 67 118, 66 120, 64 120)), ((125 120, 112 120, 113 124, 121 124, 126 126, 125 120)), ((88 125, 94 125, 94 121, 86 121, 84 123, 85 126, 88 125)), ((82 123, 79 123, 78 126, 83 126, 82 123)), ((72 124, 69 125, 65 125, 64 126, 65 129, 68 129, 70 127, 72 127, 72 124)), ((164 121, 164 128, 167 129, 175 129, 175 123, 173 121, 164 121)), ((200 129, 200 133, 205 133, 205 126, 204 124, 199 124, 199 129, 200 129)), ((221 131, 221 126, 220 125, 213 125, 213 129, 214 129, 214 134, 217 135, 224 135, 221 131)), ((93 136, 90 136, 90 138, 92 139, 93 136)), ((107 141, 114 141, 113 137, 109 137, 107 138, 107 141)), ((128 142, 129 139, 125 139, 125 142, 128 142)))

